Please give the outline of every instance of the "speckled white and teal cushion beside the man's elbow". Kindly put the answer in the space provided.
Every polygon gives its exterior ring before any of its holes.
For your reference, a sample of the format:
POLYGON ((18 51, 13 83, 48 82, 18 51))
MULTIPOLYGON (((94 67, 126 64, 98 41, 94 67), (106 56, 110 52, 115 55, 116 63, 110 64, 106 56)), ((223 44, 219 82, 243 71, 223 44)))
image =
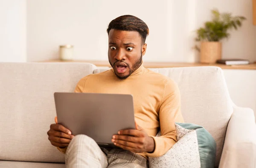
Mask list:
POLYGON ((175 123, 175 127, 177 143, 163 156, 149 157, 149 167, 214 168, 216 143, 211 134, 195 124, 175 123))

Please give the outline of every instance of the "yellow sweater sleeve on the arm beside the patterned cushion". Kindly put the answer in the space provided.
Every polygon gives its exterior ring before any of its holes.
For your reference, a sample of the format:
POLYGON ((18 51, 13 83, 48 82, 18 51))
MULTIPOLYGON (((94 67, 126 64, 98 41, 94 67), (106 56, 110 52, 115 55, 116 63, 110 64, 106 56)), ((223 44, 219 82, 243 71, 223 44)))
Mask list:
POLYGON ((149 157, 159 157, 166 154, 177 142, 175 122, 184 122, 180 111, 180 90, 174 81, 167 79, 164 86, 163 98, 159 107, 161 136, 151 136, 155 149, 145 153, 149 157))

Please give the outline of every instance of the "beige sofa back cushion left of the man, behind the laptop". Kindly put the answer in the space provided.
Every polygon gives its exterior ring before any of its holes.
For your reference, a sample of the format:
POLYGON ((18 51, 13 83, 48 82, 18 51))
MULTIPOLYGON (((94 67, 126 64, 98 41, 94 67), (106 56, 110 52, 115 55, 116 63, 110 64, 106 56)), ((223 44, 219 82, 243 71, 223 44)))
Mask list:
POLYGON ((0 160, 64 162, 47 136, 54 92, 73 92, 96 69, 85 63, 0 63, 0 160))

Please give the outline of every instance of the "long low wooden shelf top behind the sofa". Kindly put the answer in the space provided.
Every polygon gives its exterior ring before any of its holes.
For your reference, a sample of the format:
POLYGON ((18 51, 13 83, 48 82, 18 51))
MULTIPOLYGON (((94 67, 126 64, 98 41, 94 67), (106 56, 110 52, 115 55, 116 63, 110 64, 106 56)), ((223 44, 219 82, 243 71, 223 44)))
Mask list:
MULTIPOLYGON (((40 62, 86 62, 96 65, 97 67, 111 67, 108 61, 86 61, 86 60, 48 60, 40 62)), ((180 62, 143 62, 145 68, 167 68, 167 67, 203 67, 203 66, 216 66, 222 69, 235 69, 235 70, 256 70, 256 63, 248 65, 224 65, 224 64, 201 64, 201 63, 180 63, 180 62)))

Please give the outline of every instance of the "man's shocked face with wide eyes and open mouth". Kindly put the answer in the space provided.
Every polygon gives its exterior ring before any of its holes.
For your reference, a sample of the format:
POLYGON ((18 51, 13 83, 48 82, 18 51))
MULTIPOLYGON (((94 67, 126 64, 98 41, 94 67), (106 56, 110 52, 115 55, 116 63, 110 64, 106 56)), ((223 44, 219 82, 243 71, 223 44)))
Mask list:
POLYGON ((142 64, 147 44, 139 32, 111 29, 108 35, 108 61, 119 79, 128 78, 142 64))

